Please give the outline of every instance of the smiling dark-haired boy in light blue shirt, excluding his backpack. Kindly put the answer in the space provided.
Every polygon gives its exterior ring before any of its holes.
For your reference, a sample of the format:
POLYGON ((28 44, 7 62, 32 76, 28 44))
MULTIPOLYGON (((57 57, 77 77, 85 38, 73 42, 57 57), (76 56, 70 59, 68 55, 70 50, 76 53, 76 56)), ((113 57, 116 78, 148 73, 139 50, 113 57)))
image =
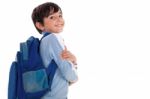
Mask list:
POLYGON ((47 67, 52 59, 58 65, 51 91, 42 99, 67 99, 68 85, 78 79, 76 57, 67 51, 59 33, 63 31, 64 19, 61 8, 52 2, 37 6, 32 12, 33 23, 40 34, 51 33, 41 40, 40 53, 47 67))

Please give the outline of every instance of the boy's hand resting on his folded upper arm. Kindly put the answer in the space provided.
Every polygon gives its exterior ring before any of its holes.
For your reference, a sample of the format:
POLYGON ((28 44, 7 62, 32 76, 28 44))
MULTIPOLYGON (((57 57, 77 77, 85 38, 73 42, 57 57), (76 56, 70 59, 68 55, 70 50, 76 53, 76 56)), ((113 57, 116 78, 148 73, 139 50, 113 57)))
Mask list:
POLYGON ((62 59, 71 61, 74 65, 76 65, 77 59, 76 59, 75 55, 73 55, 70 51, 68 51, 66 47, 65 47, 65 50, 62 51, 61 57, 62 57, 62 59))

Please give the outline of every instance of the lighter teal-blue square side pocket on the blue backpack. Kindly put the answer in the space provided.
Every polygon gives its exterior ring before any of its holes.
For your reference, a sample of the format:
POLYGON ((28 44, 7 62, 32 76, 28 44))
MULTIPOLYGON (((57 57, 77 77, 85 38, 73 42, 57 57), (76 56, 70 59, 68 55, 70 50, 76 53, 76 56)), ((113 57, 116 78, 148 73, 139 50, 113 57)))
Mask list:
POLYGON ((29 93, 47 89, 49 85, 45 69, 23 73, 23 86, 29 93))

